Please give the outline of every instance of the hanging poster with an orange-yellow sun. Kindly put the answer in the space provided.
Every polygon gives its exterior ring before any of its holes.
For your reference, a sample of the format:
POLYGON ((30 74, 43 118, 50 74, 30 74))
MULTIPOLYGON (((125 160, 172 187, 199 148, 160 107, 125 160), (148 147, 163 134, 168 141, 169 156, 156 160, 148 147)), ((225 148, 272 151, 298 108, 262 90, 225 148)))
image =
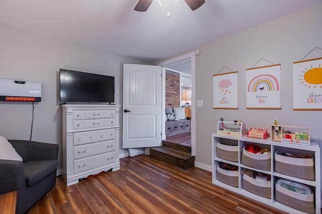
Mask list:
POLYGON ((293 63, 293 110, 322 110, 322 58, 293 63))

